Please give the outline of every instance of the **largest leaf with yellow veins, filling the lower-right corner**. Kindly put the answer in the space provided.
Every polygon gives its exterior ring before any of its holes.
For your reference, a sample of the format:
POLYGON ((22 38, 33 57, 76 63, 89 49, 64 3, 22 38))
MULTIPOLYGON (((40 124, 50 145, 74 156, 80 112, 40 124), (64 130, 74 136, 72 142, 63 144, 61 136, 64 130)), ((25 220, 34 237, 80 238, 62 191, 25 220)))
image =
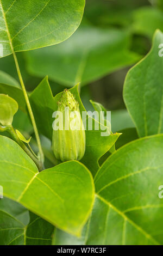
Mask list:
POLYGON ((57 229, 54 244, 162 245, 162 146, 163 136, 154 135, 112 154, 95 177, 95 204, 81 239, 57 229))

